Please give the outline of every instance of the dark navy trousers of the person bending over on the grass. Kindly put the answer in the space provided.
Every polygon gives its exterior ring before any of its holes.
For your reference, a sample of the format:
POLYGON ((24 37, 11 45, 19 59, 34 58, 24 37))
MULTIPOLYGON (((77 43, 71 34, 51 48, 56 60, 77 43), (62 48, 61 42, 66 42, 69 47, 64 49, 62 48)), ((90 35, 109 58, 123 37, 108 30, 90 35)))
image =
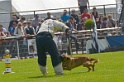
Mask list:
POLYGON ((56 44, 49 32, 42 32, 37 34, 36 45, 39 65, 46 66, 46 52, 48 52, 51 56, 53 67, 61 63, 56 44))

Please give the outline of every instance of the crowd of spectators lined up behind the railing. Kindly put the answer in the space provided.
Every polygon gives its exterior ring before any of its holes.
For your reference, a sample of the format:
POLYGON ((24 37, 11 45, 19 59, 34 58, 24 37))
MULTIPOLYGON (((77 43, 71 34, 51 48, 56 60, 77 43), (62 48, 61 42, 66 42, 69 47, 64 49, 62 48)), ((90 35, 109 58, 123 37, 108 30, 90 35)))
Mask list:
MULTIPOLYGON (((93 7, 92 12, 88 12, 87 7, 81 9, 81 15, 76 14, 76 11, 73 9, 69 14, 67 10, 64 10, 63 13, 60 15, 61 21, 65 23, 72 31, 78 30, 86 30, 84 27, 84 23, 88 19, 92 19, 94 16, 96 20, 97 29, 102 28, 112 28, 117 26, 116 20, 113 19, 112 14, 108 16, 99 15, 97 9, 93 7), (82 13, 83 12, 83 13, 82 13)), ((50 12, 47 13, 47 17, 45 19, 40 19, 38 15, 35 15, 32 21, 27 21, 25 17, 17 17, 16 15, 12 16, 12 20, 9 23, 8 30, 6 30, 2 25, 0 25, 0 38, 2 37, 9 37, 9 36, 30 36, 36 35, 38 32, 41 24, 44 20, 47 19, 55 19, 50 12)))

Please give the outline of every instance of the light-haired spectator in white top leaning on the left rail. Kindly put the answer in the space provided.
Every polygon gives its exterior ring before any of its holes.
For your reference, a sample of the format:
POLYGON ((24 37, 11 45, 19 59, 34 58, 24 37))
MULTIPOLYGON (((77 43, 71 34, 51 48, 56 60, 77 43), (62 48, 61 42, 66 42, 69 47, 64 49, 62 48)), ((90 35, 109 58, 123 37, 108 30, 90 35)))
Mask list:
POLYGON ((14 30, 14 35, 15 36, 20 36, 20 37, 24 36, 24 30, 22 28, 22 23, 17 24, 17 27, 14 30))

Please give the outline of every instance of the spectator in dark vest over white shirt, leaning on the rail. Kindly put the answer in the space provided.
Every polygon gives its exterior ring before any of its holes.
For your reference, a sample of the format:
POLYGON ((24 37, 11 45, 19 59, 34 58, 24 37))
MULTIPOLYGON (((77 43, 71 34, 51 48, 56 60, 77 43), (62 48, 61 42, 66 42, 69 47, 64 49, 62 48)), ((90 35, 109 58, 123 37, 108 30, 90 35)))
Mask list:
POLYGON ((24 33, 27 37, 30 37, 32 35, 36 35, 34 27, 31 26, 30 22, 27 22, 27 27, 24 29, 24 33))

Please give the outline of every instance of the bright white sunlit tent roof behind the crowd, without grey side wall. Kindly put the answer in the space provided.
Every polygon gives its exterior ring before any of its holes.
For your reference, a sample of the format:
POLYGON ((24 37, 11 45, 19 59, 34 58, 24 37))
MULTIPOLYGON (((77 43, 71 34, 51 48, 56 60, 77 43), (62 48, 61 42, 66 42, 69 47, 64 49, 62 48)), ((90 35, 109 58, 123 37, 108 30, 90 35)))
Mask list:
MULTIPOLYGON (((89 0, 90 5, 115 4, 115 0, 89 0)), ((35 11, 57 8, 78 7, 77 0, 12 0, 12 5, 17 11, 35 11)), ((111 7, 111 6, 109 6, 111 7)), ((102 7, 103 8, 103 7, 102 7)), ((60 12, 62 10, 52 10, 51 12, 60 12)), ((46 13, 46 12, 40 12, 46 13)), ((21 13, 21 14, 33 14, 21 13)))

